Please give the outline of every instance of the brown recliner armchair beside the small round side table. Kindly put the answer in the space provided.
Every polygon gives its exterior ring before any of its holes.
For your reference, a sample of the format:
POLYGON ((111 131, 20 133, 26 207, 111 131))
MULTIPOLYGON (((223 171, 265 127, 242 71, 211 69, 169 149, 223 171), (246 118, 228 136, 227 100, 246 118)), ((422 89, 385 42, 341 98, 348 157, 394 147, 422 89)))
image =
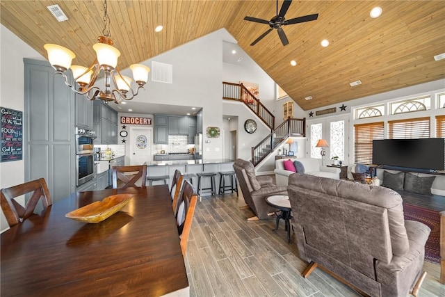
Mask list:
POLYGON ((235 160, 234 170, 245 203, 257 215, 248 220, 264 220, 269 218, 269 213, 277 211, 266 202, 266 198, 271 195, 287 195, 286 186, 275 186, 269 176, 257 177, 253 164, 243 159, 235 160))

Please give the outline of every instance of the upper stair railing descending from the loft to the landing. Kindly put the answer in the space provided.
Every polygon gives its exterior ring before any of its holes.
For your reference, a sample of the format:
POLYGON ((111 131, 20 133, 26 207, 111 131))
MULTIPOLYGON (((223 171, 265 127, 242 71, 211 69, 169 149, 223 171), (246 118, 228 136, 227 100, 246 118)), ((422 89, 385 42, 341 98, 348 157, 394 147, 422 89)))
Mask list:
POLYGON ((275 127, 275 116, 266 109, 259 99, 243 86, 243 83, 227 83, 223 81, 223 99, 243 102, 271 130, 275 127))

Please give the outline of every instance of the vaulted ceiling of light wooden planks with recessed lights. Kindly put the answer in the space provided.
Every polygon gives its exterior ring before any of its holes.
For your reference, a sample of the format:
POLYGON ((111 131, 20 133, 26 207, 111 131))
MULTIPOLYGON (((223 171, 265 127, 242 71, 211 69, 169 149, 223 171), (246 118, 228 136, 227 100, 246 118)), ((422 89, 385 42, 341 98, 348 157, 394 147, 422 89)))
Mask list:
MULTIPOLYGON (((89 65, 92 44, 103 29, 102 1, 2 0, 1 24, 43 56, 45 43, 76 53, 75 64, 89 65), (69 20, 57 22, 47 6, 58 3, 69 20)), ((241 48, 302 109, 345 102, 367 95, 445 77, 445 1, 293 1, 286 19, 318 13, 313 22, 283 26, 250 46, 269 27, 243 20, 271 19, 275 1, 113 1, 108 0, 111 35, 120 49, 119 67, 145 61, 203 35, 225 28, 241 48), (382 16, 369 17, 374 6, 382 16), (162 24, 161 33, 154 28, 162 24), (323 39, 329 47, 321 47, 323 39), (290 61, 298 64, 293 67, 290 61), (362 81, 351 88, 352 81, 362 81), (312 100, 305 97, 312 96, 312 100)), ((279 1, 279 9, 282 1, 279 1)))

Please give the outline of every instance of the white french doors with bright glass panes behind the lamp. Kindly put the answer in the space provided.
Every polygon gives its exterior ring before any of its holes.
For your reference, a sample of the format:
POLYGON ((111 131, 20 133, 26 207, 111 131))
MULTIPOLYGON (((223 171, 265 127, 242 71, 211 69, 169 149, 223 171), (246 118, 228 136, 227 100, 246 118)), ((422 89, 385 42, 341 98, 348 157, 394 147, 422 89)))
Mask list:
POLYGON ((348 163, 348 140, 349 124, 348 116, 325 118, 307 121, 308 156, 321 159, 321 147, 316 147, 319 139, 324 139, 329 147, 325 147, 323 164, 330 164, 333 156, 338 156, 339 160, 348 163))

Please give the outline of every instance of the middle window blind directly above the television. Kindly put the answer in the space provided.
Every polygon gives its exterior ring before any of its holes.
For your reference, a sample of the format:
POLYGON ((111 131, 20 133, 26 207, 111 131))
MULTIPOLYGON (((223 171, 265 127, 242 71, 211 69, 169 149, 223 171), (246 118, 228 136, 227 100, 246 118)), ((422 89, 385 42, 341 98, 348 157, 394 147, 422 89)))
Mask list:
POLYGON ((430 118, 411 118, 388 121, 388 138, 430 138, 430 118))

